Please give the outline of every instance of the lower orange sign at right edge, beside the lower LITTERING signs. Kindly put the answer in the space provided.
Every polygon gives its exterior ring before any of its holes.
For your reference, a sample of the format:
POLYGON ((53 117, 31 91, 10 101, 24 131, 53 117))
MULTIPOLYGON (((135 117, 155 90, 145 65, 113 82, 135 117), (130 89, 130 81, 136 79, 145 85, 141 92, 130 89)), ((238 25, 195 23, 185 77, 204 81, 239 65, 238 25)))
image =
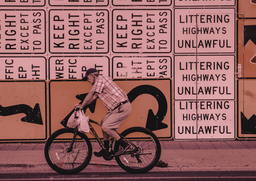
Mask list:
POLYGON ((256 79, 238 81, 237 138, 256 138, 256 79))

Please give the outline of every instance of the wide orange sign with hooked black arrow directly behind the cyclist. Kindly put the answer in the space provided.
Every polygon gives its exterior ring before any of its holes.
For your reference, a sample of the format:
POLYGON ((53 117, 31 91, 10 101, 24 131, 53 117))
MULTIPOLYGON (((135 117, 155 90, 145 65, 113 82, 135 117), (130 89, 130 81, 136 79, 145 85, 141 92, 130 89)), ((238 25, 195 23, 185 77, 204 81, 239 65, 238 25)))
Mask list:
MULTIPOLYGON (((129 127, 147 127, 159 138, 172 138, 172 82, 170 79, 116 79, 115 83, 128 95, 132 113, 120 126, 118 132, 129 127)), ((50 89, 50 132, 63 127, 62 120, 67 120, 74 106, 83 101, 92 85, 79 80, 52 80, 50 89)), ((101 100, 86 110, 91 120, 99 122, 108 112, 101 100)), ((98 125, 93 128, 102 138, 98 125)), ((92 138, 88 134, 89 138, 92 138)))

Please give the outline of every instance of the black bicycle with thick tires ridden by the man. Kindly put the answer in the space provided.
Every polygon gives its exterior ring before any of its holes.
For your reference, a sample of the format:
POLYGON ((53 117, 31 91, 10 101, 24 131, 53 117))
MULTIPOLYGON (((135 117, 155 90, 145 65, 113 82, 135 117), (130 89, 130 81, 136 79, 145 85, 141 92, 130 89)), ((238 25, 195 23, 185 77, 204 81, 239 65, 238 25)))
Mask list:
MULTIPOLYGON (((105 151, 103 158, 106 161, 115 158, 118 165, 129 173, 145 173, 159 161, 161 145, 152 131, 143 127, 124 130, 119 135, 131 146, 126 152, 116 155, 120 145, 111 138, 107 152, 91 123, 101 125, 89 119, 90 133, 105 151)), ((92 158, 92 144, 86 134, 78 131, 78 125, 75 128, 66 127, 51 134, 45 143, 44 153, 52 169, 61 174, 75 174, 88 166, 92 158)))

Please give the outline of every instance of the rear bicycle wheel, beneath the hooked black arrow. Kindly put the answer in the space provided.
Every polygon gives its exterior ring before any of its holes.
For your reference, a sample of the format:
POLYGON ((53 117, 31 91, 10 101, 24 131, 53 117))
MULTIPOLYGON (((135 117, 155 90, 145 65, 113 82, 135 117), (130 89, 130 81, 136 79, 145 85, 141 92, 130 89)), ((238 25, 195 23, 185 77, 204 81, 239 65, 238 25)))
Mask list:
MULTIPOLYGON (((121 135, 139 148, 138 151, 133 152, 135 147, 131 145, 125 153, 115 156, 116 162, 122 169, 129 173, 145 173, 156 166, 161 155, 161 145, 152 131, 143 127, 132 127, 124 130, 121 135)), ((115 151, 119 146, 118 143, 115 144, 115 151)))

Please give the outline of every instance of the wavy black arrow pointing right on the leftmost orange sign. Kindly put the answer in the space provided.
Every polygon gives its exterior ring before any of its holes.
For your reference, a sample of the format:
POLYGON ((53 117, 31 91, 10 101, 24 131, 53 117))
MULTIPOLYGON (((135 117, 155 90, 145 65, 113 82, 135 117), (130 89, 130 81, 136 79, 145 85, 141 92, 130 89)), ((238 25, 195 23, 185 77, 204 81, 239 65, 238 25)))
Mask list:
POLYGON ((26 116, 21 118, 22 122, 43 125, 39 104, 36 103, 34 109, 26 104, 3 107, 0 105, 0 116, 10 116, 13 114, 24 113, 26 116))

